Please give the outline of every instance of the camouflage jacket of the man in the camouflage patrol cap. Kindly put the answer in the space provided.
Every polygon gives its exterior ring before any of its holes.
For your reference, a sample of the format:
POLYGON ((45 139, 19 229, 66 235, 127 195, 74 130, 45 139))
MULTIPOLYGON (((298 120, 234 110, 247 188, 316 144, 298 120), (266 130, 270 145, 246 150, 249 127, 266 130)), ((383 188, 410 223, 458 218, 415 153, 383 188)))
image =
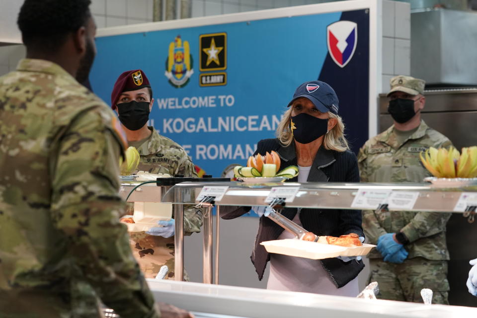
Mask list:
MULTIPOLYGON (((421 121, 419 128, 403 144, 397 142, 394 125, 368 140, 360 149, 358 164, 361 182, 423 182, 430 176, 419 161, 419 152, 429 147, 449 147, 451 141, 421 121)), ((410 243, 408 258, 449 259, 446 223, 450 213, 363 211, 363 229, 371 244, 386 233, 403 232, 410 243)), ((382 258, 377 250, 369 255, 382 258)))

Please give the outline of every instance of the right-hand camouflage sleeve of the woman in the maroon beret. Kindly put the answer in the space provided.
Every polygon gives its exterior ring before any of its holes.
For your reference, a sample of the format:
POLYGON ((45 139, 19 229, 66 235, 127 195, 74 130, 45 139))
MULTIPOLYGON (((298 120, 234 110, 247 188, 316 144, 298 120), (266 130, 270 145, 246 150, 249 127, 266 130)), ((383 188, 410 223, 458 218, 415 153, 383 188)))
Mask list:
MULTIPOLYGON (((177 173, 183 174, 185 177, 198 178, 197 172, 190 157, 184 151, 181 162, 179 162, 177 173)), ((202 210, 195 208, 193 205, 184 206, 184 235, 191 235, 194 232, 200 232, 202 227, 202 210)))

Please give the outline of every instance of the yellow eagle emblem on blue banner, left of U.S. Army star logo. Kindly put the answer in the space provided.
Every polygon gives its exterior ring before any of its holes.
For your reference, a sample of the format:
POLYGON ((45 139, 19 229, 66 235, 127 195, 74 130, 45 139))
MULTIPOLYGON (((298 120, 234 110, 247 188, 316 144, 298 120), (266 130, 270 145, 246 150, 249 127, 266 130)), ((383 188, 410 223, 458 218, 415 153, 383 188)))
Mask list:
POLYGON ((165 61, 165 77, 169 79, 172 86, 183 87, 194 74, 192 64, 189 42, 182 42, 180 35, 177 35, 174 42, 169 44, 169 56, 165 61))

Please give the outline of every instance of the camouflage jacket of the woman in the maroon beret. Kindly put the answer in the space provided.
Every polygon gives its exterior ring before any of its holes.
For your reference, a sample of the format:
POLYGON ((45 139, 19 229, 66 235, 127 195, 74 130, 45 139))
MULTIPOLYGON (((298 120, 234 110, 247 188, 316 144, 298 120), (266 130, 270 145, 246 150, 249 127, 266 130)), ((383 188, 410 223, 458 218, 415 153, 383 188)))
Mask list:
MULTIPOLYGON (((153 127, 148 128, 152 131, 150 138, 137 148, 140 155, 138 170, 197 178, 194 164, 185 150, 169 138, 159 135, 153 127)), ((201 226, 201 210, 185 205, 184 234, 200 232, 201 226)), ((162 265, 169 268, 165 278, 174 277, 174 237, 151 236, 145 232, 133 232, 130 236, 134 256, 146 277, 155 278, 162 265)), ((184 277, 188 280, 187 274, 184 277)))

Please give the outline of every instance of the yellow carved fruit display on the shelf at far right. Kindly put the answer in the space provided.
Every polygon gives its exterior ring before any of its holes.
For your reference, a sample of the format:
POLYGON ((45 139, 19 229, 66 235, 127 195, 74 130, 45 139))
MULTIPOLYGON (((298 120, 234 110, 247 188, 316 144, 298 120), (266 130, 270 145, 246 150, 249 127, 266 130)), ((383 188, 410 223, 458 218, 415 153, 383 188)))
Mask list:
POLYGON ((434 147, 419 154, 422 164, 439 178, 477 177, 477 146, 462 148, 459 153, 454 147, 449 150, 434 147))

